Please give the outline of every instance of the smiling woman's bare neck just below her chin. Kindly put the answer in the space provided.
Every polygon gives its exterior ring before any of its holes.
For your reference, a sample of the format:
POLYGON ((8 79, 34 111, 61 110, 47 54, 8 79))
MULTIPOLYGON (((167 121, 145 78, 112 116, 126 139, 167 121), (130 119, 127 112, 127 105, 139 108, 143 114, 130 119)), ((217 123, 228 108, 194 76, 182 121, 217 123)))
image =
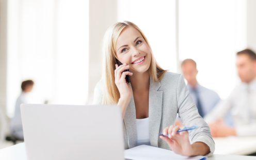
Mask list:
POLYGON ((131 76, 131 84, 133 91, 145 91, 149 90, 149 72, 136 73, 131 76))

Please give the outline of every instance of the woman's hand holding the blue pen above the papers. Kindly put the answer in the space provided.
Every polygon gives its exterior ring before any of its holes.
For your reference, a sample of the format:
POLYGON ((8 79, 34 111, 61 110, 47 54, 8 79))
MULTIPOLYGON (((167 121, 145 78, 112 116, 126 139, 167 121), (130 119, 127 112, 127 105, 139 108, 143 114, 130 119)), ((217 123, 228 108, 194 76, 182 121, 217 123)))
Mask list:
POLYGON ((173 152, 180 155, 184 155, 184 156, 192 156, 193 147, 192 145, 190 145, 188 132, 183 131, 178 133, 177 131, 179 129, 180 129, 179 126, 173 126, 173 125, 166 127, 163 132, 163 134, 166 136, 160 136, 160 138, 165 140, 168 143, 170 149, 173 152))

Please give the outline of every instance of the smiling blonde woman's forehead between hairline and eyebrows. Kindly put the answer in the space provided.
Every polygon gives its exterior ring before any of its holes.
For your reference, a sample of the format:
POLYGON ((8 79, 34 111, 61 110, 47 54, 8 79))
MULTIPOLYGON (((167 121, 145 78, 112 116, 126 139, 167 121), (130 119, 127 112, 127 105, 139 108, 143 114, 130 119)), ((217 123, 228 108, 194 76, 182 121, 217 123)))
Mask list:
POLYGON ((133 42, 137 37, 142 37, 140 32, 132 26, 125 27, 117 39, 117 49, 122 45, 128 45, 133 42))

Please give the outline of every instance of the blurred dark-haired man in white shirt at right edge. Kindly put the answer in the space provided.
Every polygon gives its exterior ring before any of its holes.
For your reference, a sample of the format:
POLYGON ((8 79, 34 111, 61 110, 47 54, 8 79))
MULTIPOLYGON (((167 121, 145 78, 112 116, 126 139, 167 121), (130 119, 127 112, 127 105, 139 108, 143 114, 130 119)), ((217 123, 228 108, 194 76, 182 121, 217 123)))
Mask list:
POLYGON ((205 118, 215 137, 256 136, 256 54, 249 49, 237 52, 236 68, 242 83, 205 118), (228 113, 234 127, 221 121, 228 113))

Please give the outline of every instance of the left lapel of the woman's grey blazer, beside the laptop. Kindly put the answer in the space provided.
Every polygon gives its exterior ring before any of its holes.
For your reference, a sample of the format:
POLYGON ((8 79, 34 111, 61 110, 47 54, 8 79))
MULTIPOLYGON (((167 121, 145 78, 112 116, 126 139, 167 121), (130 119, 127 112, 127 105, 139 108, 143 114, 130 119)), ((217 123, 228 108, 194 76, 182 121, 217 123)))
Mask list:
POLYGON ((136 143, 137 143, 136 109, 135 109, 133 95, 125 111, 124 125, 127 132, 127 140, 128 140, 129 148, 136 147, 136 143))

